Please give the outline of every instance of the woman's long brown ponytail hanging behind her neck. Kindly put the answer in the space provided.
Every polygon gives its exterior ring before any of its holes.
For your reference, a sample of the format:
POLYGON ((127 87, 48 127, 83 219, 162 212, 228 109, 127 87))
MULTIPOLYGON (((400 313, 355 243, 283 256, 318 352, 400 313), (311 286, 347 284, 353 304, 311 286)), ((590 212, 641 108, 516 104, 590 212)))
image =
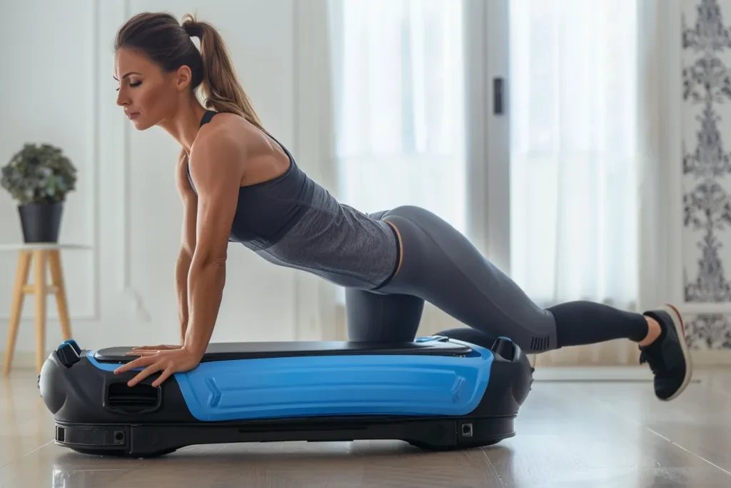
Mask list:
POLYGON ((263 130, 262 121, 238 81, 226 43, 219 31, 210 23, 195 20, 190 14, 183 16, 183 29, 190 37, 200 39, 200 91, 205 99, 205 107, 217 112, 238 113, 263 130))

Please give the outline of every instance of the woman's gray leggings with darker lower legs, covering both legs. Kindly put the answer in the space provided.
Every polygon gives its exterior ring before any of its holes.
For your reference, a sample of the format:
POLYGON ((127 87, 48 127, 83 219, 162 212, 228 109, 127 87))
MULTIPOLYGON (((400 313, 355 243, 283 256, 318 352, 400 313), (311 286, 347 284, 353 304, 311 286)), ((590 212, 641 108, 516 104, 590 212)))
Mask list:
POLYGON ((450 336, 478 345, 509 337, 526 353, 611 339, 641 340, 643 315, 572 301, 544 309, 497 269, 463 234, 431 211, 400 206, 371 214, 401 234, 401 269, 377 290, 346 289, 349 340, 412 341, 424 302, 469 329, 450 336))

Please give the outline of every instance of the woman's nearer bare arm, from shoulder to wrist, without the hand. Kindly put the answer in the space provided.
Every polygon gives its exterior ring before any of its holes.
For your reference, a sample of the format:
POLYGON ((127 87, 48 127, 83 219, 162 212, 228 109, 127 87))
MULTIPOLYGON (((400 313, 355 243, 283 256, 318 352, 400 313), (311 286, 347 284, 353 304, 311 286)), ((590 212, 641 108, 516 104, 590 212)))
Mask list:
POLYGON ((241 180, 240 144, 225 132, 197 142, 190 171, 197 189, 195 249, 188 273, 188 328, 184 346, 201 358, 213 334, 226 279, 231 225, 241 180))

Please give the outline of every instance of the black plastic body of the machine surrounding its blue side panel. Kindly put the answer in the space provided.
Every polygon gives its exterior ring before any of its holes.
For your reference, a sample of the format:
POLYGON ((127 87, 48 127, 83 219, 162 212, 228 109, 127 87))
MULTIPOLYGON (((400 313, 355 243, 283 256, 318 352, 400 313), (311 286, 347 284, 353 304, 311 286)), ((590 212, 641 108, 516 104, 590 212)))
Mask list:
MULTIPOLYGON (((460 341, 461 334, 462 331, 450 331, 449 336, 460 341)), ((482 347, 493 354, 488 386, 474 410, 463 416, 295 416, 199 421, 187 408, 174 377, 156 388, 150 385, 155 375, 132 388, 121 388, 135 373, 115 377, 110 369, 92 365, 87 351, 76 344, 61 345, 50 354, 39 375, 39 390, 54 414, 56 444, 83 454, 156 457, 194 445, 303 440, 402 440, 418 448, 446 451, 490 446, 515 436, 514 421, 531 389, 533 368, 518 345, 509 339, 499 338, 482 347)), ((125 349, 101 350, 94 357, 100 364, 129 361, 130 356, 124 356, 125 349)), ((430 340, 406 345, 213 345, 204 361, 336 354, 426 354, 438 360, 442 356, 466 357, 470 351, 469 341, 450 341, 446 334, 438 334, 430 340)))

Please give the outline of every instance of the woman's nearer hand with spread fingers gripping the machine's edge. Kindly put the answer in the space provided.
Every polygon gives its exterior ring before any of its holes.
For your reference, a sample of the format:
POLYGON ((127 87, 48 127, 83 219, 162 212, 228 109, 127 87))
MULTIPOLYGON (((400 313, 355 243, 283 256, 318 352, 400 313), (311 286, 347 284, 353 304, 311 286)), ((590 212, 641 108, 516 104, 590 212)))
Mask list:
POLYGON ((159 386, 164 380, 170 378, 175 372, 190 371, 198 366, 201 356, 196 356, 187 350, 184 346, 174 346, 174 349, 152 349, 151 346, 143 348, 135 348, 134 352, 126 353, 127 356, 140 356, 139 358, 129 361, 114 370, 114 374, 129 371, 139 367, 145 367, 135 378, 127 382, 127 386, 135 386, 140 381, 156 372, 162 371, 159 378, 154 380, 152 386, 159 386))

